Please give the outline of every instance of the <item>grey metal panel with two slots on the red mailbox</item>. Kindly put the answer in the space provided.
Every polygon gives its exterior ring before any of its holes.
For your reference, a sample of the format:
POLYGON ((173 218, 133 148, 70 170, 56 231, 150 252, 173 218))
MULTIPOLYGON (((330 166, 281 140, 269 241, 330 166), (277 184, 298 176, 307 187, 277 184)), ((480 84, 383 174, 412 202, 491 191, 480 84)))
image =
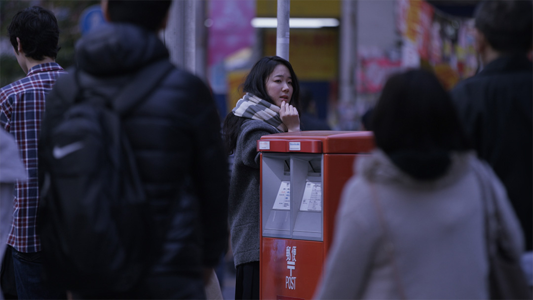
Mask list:
POLYGON ((322 241, 323 199, 321 154, 262 153, 263 237, 322 241))

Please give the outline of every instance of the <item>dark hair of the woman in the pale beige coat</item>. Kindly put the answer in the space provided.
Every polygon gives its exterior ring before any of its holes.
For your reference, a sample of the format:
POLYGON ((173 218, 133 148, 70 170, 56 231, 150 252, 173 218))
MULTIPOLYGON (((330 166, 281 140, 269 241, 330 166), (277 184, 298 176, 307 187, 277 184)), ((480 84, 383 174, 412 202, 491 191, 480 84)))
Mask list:
POLYGON ((430 71, 390 77, 372 112, 378 148, 419 180, 432 180, 450 165, 450 151, 471 149, 450 95, 430 71))

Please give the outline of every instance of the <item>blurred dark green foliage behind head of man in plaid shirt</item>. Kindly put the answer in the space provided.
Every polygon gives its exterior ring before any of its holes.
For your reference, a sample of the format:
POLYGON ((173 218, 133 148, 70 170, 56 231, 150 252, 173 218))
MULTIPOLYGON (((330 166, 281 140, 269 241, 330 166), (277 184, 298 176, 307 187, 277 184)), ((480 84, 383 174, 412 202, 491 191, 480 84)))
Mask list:
POLYGON ((74 45, 81 37, 80 15, 87 7, 99 3, 99 0, 0 0, 0 86, 26 76, 15 59, 7 33, 7 27, 18 11, 36 5, 55 14, 60 30, 61 46, 56 62, 66 69, 74 63, 74 45))

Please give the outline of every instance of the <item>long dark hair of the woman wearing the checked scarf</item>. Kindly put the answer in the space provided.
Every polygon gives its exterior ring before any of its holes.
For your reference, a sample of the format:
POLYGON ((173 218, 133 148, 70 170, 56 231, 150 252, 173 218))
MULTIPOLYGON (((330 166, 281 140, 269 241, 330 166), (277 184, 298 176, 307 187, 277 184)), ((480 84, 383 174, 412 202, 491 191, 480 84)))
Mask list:
MULTIPOLYGON (((243 89, 243 92, 251 93, 275 105, 276 103, 274 103, 268 95, 268 92, 266 92, 266 80, 279 64, 283 64, 289 69, 290 77, 292 77, 293 82, 293 96, 290 98, 289 103, 296 107, 298 112, 301 113, 300 83, 298 83, 298 78, 296 77, 296 73, 290 65, 290 62, 279 56, 265 56, 257 61, 248 73, 248 76, 246 76, 241 88, 243 89)), ((229 154, 233 153, 233 150, 235 150, 235 147, 237 146, 237 135, 245 120, 246 118, 233 115, 233 112, 231 111, 224 119, 222 132, 229 154)))

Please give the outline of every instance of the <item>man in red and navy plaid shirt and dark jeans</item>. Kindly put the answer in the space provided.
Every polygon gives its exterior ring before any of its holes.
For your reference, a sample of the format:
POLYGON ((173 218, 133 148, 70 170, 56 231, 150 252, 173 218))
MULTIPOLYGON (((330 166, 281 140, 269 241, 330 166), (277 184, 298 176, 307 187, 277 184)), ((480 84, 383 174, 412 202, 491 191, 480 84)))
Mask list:
POLYGON ((60 299, 66 295, 42 281, 41 241, 35 231, 41 118, 46 94, 66 73, 55 62, 60 48, 59 27, 52 12, 33 6, 15 14, 7 31, 17 61, 27 75, 0 90, 0 124, 17 141, 28 172, 28 181, 15 185, 13 225, 7 244, 12 247, 19 299, 60 299))

